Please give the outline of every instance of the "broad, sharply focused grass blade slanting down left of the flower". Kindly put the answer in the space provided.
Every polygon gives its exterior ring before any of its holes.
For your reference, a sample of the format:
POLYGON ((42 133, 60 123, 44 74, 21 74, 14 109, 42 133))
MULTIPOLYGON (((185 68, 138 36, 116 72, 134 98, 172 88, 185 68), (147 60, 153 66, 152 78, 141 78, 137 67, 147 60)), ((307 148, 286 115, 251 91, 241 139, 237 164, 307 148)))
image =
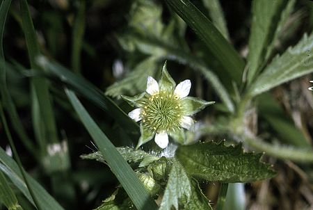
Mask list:
POLYGON ((90 117, 86 109, 83 107, 74 92, 66 90, 67 97, 70 99, 77 115, 88 133, 95 141, 106 163, 110 166, 113 174, 118 178, 120 184, 134 202, 137 209, 157 209, 157 204, 150 197, 147 189, 136 176, 134 170, 131 169, 127 161, 120 155, 118 150, 111 143, 109 138, 99 129, 95 121, 90 117))

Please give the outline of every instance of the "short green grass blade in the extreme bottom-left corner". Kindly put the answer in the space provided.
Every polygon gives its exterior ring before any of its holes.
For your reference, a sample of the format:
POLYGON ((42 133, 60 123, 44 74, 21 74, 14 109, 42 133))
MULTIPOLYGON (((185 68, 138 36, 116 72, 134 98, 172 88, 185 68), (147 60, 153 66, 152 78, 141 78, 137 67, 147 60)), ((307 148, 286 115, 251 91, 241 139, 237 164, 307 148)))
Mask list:
POLYGON ((8 210, 22 210, 17 198, 10 188, 8 180, 4 177, 3 172, 0 171, 0 200, 8 208, 8 210))

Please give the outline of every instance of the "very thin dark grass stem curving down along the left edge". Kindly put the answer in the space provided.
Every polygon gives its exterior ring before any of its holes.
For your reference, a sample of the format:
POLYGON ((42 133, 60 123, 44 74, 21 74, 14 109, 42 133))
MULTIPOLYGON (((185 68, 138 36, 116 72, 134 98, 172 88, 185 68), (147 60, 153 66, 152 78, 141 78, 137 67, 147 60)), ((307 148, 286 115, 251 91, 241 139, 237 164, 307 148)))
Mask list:
POLYGON ((35 194, 33 193, 33 189, 31 188, 31 186, 29 184, 29 180, 26 177, 26 172, 25 172, 25 170, 24 170, 24 168, 22 166, 22 162, 19 159, 19 154, 17 153, 15 144, 13 142, 13 138, 12 138, 12 136, 10 134, 10 130, 8 129, 8 123, 6 122, 6 117, 5 117, 4 113, 3 113, 3 108, 2 108, 1 102, 0 102, 0 115, 1 115, 3 128, 4 128, 4 131, 6 132, 6 136, 8 137, 8 141, 10 143, 10 147, 12 149, 15 161, 17 162, 17 165, 19 166, 19 170, 22 172, 22 176, 24 178, 24 181, 25 181, 25 184, 26 184, 27 188, 29 189, 29 193, 31 194, 31 197, 33 198, 33 202, 35 203, 35 207, 38 210, 41 210, 42 208, 40 207, 40 204, 39 204, 39 202, 37 200, 37 197, 35 197, 35 194))

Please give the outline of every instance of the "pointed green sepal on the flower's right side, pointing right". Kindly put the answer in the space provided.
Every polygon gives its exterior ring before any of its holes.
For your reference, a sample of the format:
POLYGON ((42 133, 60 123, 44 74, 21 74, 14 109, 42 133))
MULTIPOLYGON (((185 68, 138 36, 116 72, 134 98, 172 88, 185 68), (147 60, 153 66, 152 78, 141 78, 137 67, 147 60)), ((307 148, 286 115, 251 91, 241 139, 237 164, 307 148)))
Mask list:
POLYGON ((195 97, 185 97, 182 99, 182 107, 184 108, 184 115, 193 115, 198 113, 206 106, 215 104, 215 102, 207 102, 195 97))

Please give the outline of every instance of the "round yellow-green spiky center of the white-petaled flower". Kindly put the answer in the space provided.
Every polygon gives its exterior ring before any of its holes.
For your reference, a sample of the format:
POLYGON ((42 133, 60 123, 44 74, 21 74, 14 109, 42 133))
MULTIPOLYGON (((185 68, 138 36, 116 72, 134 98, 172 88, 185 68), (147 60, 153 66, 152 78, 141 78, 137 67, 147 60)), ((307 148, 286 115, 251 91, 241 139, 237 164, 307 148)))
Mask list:
POLYGON ((182 106, 179 97, 160 91, 143 99, 143 126, 152 131, 177 129, 182 118, 182 106))

